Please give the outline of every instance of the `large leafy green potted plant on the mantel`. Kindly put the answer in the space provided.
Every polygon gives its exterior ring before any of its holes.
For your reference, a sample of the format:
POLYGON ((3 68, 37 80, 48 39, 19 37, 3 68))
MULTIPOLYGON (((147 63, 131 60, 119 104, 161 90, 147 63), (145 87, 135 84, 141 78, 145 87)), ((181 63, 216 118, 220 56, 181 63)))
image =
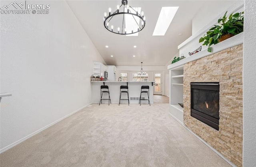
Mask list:
MULTIPOLYGON (((228 12, 228 11, 227 11, 228 12)), ((218 20, 219 25, 214 25, 206 34, 199 39, 204 42, 203 45, 208 46, 208 52, 211 52, 211 46, 218 44, 232 36, 235 36, 244 31, 244 12, 230 14, 226 17, 227 12, 218 20)))

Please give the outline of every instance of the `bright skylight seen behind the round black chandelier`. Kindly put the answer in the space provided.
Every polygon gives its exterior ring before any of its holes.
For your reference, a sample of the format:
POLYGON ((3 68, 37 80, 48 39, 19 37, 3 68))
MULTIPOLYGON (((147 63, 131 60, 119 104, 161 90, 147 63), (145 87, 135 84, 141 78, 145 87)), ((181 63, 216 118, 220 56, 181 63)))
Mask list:
MULTIPOLYGON (((136 7, 134 7, 134 10, 135 10, 136 7)), ((130 9, 130 12, 131 13, 134 13, 136 14, 136 11, 134 11, 132 9, 130 9)), ((141 7, 138 7, 138 13, 141 12, 141 7)), ((125 25, 126 25, 126 30, 128 31, 128 33, 132 32, 132 30, 137 30, 138 29, 138 25, 140 25, 140 18, 138 17, 133 17, 132 15, 130 14, 125 14, 124 15, 124 18, 125 18, 125 25), (136 20, 136 22, 134 22, 134 18, 136 20)), ((138 36, 139 33, 135 33, 135 34, 128 34, 126 36, 138 36)))

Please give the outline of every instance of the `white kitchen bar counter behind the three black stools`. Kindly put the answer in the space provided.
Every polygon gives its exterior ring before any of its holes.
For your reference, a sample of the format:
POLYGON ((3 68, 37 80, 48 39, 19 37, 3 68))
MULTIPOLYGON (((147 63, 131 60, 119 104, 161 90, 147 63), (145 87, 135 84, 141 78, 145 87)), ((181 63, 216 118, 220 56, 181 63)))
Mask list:
MULTIPOLYGON (((119 103, 120 86, 128 85, 130 103, 136 103, 139 105, 140 90, 142 85, 149 86, 149 100, 150 104, 153 103, 153 85, 154 81, 91 81, 92 85, 92 103, 100 102, 100 86, 108 85, 110 91, 110 99, 112 103, 119 103), (132 99, 132 100, 131 100, 132 99)), ((142 93, 142 97, 148 99, 146 93, 142 93)), ((103 93, 103 99, 108 99, 108 93, 103 93)), ((127 93, 122 93, 121 99, 127 99, 127 93)), ((108 100, 102 100, 102 103, 108 103, 108 100)), ((121 104, 128 104, 128 100, 121 100, 121 104)), ((141 103, 148 103, 147 100, 142 100, 141 103)))

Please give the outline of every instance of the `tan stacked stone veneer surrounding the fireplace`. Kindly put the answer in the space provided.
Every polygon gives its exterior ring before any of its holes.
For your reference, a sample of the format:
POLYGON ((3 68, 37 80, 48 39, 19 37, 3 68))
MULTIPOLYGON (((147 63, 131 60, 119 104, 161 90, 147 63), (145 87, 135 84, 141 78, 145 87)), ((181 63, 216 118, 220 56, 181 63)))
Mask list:
POLYGON ((237 166, 242 166, 242 56, 241 44, 184 65, 184 125, 237 166), (220 82, 219 131, 190 116, 191 82, 220 82))

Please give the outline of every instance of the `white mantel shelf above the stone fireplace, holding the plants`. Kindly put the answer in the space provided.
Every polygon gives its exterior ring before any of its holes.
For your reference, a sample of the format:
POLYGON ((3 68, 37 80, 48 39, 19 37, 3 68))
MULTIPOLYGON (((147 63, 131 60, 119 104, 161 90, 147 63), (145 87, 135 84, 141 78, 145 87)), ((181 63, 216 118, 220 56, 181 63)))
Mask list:
POLYGON ((203 58, 205 56, 209 56, 211 54, 220 52, 222 50, 231 48, 233 46, 237 46, 244 43, 244 33, 237 34, 236 36, 233 36, 231 38, 228 38, 227 40, 224 40, 218 44, 212 45, 211 50, 212 52, 208 52, 207 48, 205 50, 202 50, 200 52, 197 52, 196 54, 193 54, 189 57, 186 57, 174 64, 170 64, 167 68, 168 70, 174 70, 175 68, 178 68, 188 62, 192 62, 194 60, 198 60, 200 58, 203 58))

